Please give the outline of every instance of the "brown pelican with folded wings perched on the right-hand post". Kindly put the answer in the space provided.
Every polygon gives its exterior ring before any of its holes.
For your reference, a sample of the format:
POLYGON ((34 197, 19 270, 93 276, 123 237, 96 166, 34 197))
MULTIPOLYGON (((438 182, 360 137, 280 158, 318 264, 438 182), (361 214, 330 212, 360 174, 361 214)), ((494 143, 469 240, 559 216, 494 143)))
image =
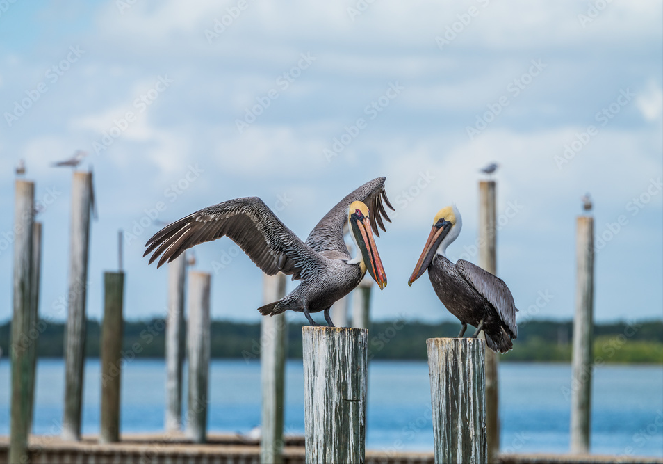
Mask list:
POLYGON ((428 277, 435 293, 447 310, 462 324, 459 337, 467 324, 486 335, 486 344, 493 351, 506 353, 516 338, 516 305, 507 285, 479 266, 459 259, 456 264, 447 259, 447 247, 458 237, 462 219, 457 207, 445 207, 435 215, 433 228, 417 262, 408 285, 428 269, 428 277))

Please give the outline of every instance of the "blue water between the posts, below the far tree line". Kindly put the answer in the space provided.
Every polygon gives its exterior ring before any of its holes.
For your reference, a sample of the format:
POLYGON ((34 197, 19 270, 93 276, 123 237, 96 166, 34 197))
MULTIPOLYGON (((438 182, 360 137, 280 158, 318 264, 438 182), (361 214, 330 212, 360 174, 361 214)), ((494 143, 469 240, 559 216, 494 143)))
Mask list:
MULTIPOLYGON (((566 364, 500 365, 502 450, 568 452, 571 367, 566 364)), ((163 430, 163 360, 133 360, 122 372, 122 431, 163 430)), ((186 383, 185 383, 186 385, 186 383)), ((385 452, 433 449, 426 362, 370 363, 366 446, 385 452)), ((286 371, 286 433, 304 433, 301 362, 286 371)), ((60 433, 63 360, 40 360, 34 433, 60 433)), ((83 433, 99 431, 99 362, 85 364, 83 433)), ((10 370, 0 360, 0 435, 9 433, 10 370)), ((213 360, 210 431, 247 433, 260 423, 260 365, 213 360)), ((593 383, 591 451, 663 456, 663 368, 603 366, 593 383)))

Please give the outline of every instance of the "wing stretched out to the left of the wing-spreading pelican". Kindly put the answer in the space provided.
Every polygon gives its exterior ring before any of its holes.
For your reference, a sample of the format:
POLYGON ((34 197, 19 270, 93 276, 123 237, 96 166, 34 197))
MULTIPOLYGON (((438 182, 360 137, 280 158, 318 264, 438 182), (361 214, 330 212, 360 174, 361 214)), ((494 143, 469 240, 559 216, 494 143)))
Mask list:
POLYGON ((201 209, 163 227, 145 246, 152 264, 171 262, 184 250, 223 236, 230 237, 265 274, 281 271, 305 278, 323 265, 323 258, 288 229, 260 198, 236 198, 201 209))

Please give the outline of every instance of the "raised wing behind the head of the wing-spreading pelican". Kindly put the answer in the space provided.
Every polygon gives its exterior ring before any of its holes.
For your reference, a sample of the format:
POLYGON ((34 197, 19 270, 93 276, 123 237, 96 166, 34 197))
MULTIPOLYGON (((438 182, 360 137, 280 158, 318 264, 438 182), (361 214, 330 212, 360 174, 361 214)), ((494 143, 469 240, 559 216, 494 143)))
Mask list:
POLYGON ((395 211, 384 191, 384 181, 386 177, 378 177, 370 182, 366 182, 359 189, 347 195, 343 200, 331 208, 325 217, 320 219, 320 222, 309 234, 306 239, 306 245, 316 250, 318 253, 323 251, 339 251, 349 255, 345 241, 343 240, 343 225, 347 223, 347 208, 354 201, 361 201, 366 203, 370 211, 370 225, 373 232, 380 236, 378 226, 386 232, 382 218, 391 223, 391 219, 386 214, 382 200, 386 203, 392 211, 395 211))

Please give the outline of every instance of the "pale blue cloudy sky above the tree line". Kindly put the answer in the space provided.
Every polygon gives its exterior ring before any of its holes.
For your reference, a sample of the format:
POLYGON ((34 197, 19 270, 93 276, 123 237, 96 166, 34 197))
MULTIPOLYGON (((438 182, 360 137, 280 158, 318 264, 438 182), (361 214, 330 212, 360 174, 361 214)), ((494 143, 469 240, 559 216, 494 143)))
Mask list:
MULTIPOLYGON (((479 169, 493 161, 498 275, 519 322, 573 317, 587 192, 596 321, 661 319, 662 18, 658 1, 1 1, 0 321, 19 159, 43 207, 40 314, 65 317, 72 173, 51 163, 75 150, 95 173, 94 319, 118 230, 125 317, 164 317, 167 267, 142 257, 164 223, 259 196, 304 239, 386 176, 388 287, 371 317, 454 321, 425 276, 407 279, 452 203, 463 229, 448 255, 478 264, 479 169)), ((261 271, 227 238, 195 253, 212 317, 258 321, 261 271)))

